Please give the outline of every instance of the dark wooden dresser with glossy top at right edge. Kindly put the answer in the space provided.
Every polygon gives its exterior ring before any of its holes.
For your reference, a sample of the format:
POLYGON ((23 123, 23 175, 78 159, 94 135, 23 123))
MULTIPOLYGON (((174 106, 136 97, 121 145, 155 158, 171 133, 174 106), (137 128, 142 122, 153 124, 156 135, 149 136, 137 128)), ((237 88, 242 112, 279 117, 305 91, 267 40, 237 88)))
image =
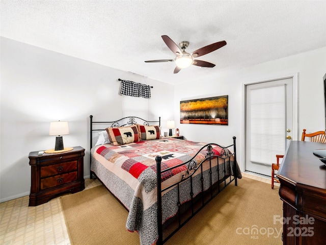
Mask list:
POLYGON ((283 244, 326 244, 326 166, 317 149, 326 144, 291 141, 279 169, 283 244))

